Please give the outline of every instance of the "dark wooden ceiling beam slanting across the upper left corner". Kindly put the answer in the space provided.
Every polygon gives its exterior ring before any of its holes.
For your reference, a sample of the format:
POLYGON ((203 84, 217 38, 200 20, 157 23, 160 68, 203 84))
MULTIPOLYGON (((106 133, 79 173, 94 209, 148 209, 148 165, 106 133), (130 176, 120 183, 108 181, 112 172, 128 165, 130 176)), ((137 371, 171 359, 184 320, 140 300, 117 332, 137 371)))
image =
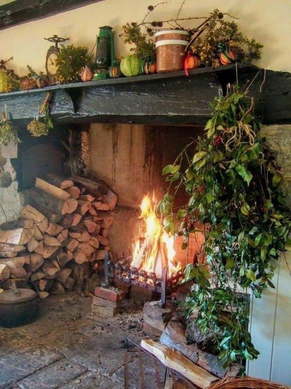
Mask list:
POLYGON ((14 0, 0 6, 0 30, 104 0, 14 0))

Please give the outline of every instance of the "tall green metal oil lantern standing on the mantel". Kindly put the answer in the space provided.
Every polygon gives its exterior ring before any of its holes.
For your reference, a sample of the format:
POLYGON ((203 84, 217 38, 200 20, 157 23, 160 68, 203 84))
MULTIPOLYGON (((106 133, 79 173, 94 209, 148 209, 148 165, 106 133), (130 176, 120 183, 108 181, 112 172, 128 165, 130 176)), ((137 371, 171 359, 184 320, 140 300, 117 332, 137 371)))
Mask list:
POLYGON ((94 80, 104 80, 109 77, 108 69, 113 66, 114 59, 114 31, 110 26, 99 27, 94 80))

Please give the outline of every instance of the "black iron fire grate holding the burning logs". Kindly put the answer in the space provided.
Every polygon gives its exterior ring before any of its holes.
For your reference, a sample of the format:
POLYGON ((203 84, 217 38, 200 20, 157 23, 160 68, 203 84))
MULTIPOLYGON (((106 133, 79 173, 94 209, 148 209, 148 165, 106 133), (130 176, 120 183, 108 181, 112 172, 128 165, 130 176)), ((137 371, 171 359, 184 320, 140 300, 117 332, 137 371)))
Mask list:
POLYGON ((162 277, 158 278, 155 273, 147 273, 145 270, 131 267, 131 262, 131 254, 113 259, 110 252, 107 252, 104 258, 105 284, 109 285, 113 279, 116 279, 123 283, 155 291, 161 294, 159 306, 163 308, 166 297, 178 287, 178 283, 183 276, 183 271, 179 270, 176 274, 168 276, 168 267, 164 266, 162 268, 162 277))

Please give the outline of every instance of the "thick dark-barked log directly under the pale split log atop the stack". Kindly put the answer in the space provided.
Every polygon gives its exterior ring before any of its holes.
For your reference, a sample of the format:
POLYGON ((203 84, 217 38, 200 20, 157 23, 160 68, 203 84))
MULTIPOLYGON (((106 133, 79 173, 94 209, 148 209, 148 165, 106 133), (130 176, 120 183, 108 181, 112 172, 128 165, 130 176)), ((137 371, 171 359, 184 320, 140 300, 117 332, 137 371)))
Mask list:
MULTIPOLYGON (((27 191, 27 193, 30 196, 32 204, 39 209, 46 207, 50 211, 58 213, 59 215, 65 215, 68 213, 68 205, 66 203, 68 200, 60 200, 38 188, 31 188, 27 191)), ((47 230, 47 228, 45 230, 47 230)), ((45 232, 45 230, 42 232, 45 232)))

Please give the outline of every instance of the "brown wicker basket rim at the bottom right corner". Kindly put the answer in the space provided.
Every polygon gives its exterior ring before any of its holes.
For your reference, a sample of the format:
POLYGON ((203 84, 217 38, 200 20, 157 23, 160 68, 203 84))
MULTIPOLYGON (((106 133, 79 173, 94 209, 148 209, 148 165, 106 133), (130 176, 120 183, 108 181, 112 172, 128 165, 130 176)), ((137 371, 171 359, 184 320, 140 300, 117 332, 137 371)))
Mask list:
POLYGON ((290 389, 290 386, 252 377, 224 378, 210 385, 208 389, 290 389))

